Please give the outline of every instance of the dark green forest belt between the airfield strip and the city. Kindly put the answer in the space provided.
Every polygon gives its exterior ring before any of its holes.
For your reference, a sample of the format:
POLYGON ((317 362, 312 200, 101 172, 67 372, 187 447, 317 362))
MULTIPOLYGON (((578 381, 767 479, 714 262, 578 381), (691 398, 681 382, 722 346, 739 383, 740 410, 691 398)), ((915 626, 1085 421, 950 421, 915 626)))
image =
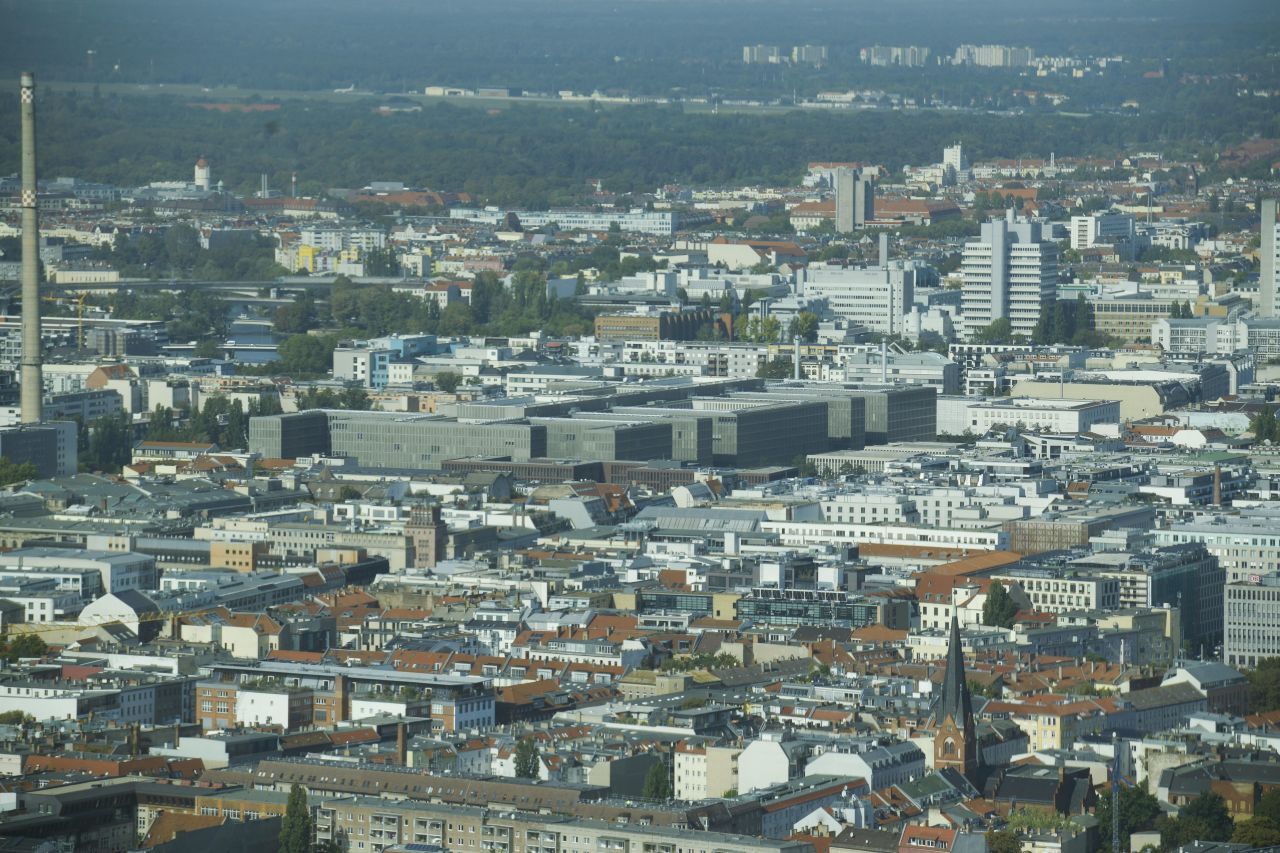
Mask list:
MULTIPOLYGON (((17 97, 0 97, 0 105, 6 101, 0 109, 17 111, 17 97)), ((192 163, 207 156, 215 179, 236 191, 252 191, 262 173, 274 186, 287 186, 297 172, 300 190, 308 195, 392 179, 497 204, 545 206, 581 196, 595 179, 625 193, 669 182, 794 182, 810 160, 869 160, 890 168, 933 163, 956 140, 978 159, 1047 158, 1051 151, 1060 158, 1116 155, 1162 146, 1166 154, 1212 163, 1216 150, 1248 134, 1280 137, 1280 114, 1266 99, 1219 99, 1180 111, 1178 120, 1171 115, 778 117, 690 114, 678 106, 477 110, 442 102, 381 115, 369 102, 308 100, 284 101, 266 113, 224 114, 170 96, 45 92, 41 169, 140 186, 189 179, 192 163), (1224 122, 1228 109, 1231 120, 1224 122)), ((17 134, 17 122, 0 123, 0 174, 18 168, 17 134)))

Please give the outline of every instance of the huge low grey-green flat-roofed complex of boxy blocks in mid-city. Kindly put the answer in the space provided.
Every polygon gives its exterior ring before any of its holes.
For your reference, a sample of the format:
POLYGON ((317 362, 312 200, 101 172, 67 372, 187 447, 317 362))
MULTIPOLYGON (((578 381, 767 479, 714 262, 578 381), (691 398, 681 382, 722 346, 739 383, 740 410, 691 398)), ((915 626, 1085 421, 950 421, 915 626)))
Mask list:
POLYGON ((463 457, 773 465, 867 443, 932 441, 933 400, 929 387, 672 382, 552 403, 460 403, 453 416, 312 410, 253 418, 250 447, 273 459, 335 455, 364 467, 415 470, 463 457))

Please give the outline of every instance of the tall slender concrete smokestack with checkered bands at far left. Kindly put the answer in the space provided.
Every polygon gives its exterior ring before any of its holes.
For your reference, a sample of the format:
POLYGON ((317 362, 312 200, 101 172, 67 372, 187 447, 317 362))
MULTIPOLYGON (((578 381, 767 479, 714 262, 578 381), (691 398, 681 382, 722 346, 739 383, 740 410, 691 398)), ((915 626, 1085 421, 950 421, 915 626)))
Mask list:
POLYGON ((40 365, 40 220, 36 213, 36 77, 22 73, 22 423, 44 418, 40 365))

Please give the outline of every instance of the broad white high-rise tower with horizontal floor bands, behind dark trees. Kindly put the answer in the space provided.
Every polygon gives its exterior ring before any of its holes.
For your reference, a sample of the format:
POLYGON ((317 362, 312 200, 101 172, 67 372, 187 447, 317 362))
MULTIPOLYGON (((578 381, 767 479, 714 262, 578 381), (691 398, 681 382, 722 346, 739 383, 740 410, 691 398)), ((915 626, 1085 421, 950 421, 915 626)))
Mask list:
POLYGON ((1030 336, 1041 311, 1057 293, 1057 243, 1038 222, 1005 219, 983 223, 978 240, 965 243, 964 336, 1007 318, 1014 334, 1030 336))

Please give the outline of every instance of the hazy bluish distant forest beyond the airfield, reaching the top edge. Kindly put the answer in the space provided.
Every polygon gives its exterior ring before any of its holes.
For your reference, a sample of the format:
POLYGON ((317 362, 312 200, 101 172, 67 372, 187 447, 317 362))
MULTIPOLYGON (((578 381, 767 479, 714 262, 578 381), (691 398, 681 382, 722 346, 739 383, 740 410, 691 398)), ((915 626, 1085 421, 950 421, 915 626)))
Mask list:
MULTIPOLYGON (((0 0, 0 69, 61 81, 244 88, 420 90, 425 83, 666 93, 809 93, 884 87, 859 47, 1028 45, 1039 55, 1124 55, 1135 77, 1275 74, 1268 0, 0 0), (828 46, 823 68, 744 65, 742 45, 828 46)), ((950 72, 947 72, 950 73, 950 72)), ((980 79, 980 78, 978 78, 980 79)), ((1065 85, 1070 85, 1066 81, 1065 85)), ((919 91, 919 90, 918 90, 919 91)))

